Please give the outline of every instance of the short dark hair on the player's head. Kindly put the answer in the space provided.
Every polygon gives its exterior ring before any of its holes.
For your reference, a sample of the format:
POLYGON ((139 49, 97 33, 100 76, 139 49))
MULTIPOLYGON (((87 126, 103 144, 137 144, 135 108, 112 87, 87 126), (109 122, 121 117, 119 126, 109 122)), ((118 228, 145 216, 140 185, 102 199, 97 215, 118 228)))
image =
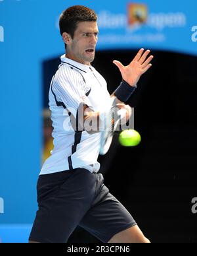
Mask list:
POLYGON ((83 5, 74 5, 69 7, 60 15, 60 34, 62 35, 66 32, 74 38, 74 32, 77 29, 77 24, 82 21, 97 21, 95 11, 83 5))

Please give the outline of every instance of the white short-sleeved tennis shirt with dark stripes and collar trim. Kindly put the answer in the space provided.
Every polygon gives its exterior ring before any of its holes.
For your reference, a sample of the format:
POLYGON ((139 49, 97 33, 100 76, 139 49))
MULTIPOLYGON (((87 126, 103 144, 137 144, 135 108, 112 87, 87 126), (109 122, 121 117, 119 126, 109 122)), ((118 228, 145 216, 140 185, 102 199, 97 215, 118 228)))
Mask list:
POLYGON ((83 65, 61 56, 61 64, 51 81, 49 108, 53 121, 54 148, 44 162, 40 174, 51 174, 87 168, 98 172, 97 158, 100 150, 100 133, 90 135, 76 131, 72 117, 79 118, 79 106, 87 104, 95 112, 103 112, 110 102, 106 80, 89 65, 83 65), (70 115, 72 113, 72 115, 70 115))

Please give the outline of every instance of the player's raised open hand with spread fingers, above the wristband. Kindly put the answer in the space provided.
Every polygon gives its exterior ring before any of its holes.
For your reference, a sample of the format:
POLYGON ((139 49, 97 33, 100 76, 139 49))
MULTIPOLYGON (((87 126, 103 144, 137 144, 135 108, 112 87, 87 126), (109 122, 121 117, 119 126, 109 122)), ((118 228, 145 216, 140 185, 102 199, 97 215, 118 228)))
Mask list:
POLYGON ((113 63, 119 68, 121 77, 131 86, 135 86, 139 81, 142 74, 144 74, 151 66, 150 61, 152 60, 153 56, 150 55, 147 59, 148 53, 150 50, 147 49, 144 51, 141 48, 137 55, 135 55, 133 61, 127 66, 121 64, 120 61, 113 61, 113 63), (142 54, 143 53, 143 54, 142 54))

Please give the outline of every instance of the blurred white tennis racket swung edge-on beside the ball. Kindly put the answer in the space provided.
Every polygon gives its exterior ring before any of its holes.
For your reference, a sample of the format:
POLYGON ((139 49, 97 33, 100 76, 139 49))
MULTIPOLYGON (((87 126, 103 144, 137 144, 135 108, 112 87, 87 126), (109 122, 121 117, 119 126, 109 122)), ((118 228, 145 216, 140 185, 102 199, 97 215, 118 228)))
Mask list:
POLYGON ((113 97, 110 108, 104 113, 104 123, 102 125, 102 131, 100 131, 100 154, 103 155, 108 152, 119 121, 120 113, 116 106, 116 97, 113 97))

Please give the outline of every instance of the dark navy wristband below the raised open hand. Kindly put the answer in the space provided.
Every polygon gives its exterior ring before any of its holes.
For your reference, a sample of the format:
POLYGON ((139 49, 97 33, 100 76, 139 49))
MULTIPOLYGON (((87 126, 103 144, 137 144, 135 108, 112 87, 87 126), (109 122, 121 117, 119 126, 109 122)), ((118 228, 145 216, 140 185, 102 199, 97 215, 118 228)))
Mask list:
POLYGON ((114 91, 114 95, 120 100, 121 102, 126 102, 131 94, 135 91, 137 86, 130 86, 125 80, 122 80, 120 86, 114 91))

